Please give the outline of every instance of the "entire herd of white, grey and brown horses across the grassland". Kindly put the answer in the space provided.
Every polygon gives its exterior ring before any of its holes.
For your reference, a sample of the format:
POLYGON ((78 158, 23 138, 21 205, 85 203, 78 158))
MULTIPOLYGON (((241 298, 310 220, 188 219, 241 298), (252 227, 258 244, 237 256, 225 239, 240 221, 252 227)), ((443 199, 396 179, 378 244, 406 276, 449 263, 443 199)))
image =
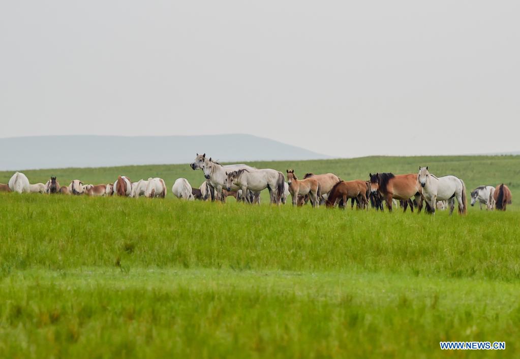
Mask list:
MULTIPOLYGON (((428 167, 419 167, 415 174, 394 175, 392 173, 369 174, 369 180, 344 181, 334 174, 306 174, 298 179, 294 170, 287 170, 287 181, 282 172, 263 168, 258 169, 244 164, 221 165, 205 153, 197 154, 190 164, 193 170, 201 169, 205 181, 201 186, 192 188, 185 178, 179 178, 172 187, 173 194, 184 200, 226 201, 233 196, 237 201, 257 204, 260 193, 267 189, 270 204, 285 204, 289 194, 292 204, 302 206, 310 202, 313 207, 326 205, 345 208, 350 206, 365 209, 369 206, 383 210, 386 203, 388 210, 399 205, 413 212, 417 207, 420 212, 423 204, 425 211, 435 213, 436 209, 450 208, 450 215, 457 200, 459 214, 466 214, 466 187, 464 181, 455 176, 436 177, 428 171, 428 167), (413 198, 413 200, 412 200, 413 198)), ((51 177, 45 184, 30 184, 21 172, 16 172, 8 184, 0 184, 0 191, 18 193, 73 194, 89 196, 111 196, 113 194, 128 197, 161 197, 166 196, 166 184, 162 178, 141 179, 132 182, 126 176, 119 176, 114 183, 84 184, 73 180, 68 186, 60 186, 56 177, 51 177)), ((505 210, 511 204, 511 191, 501 183, 496 187, 479 186, 471 192, 471 205, 479 203, 486 209, 505 210)))

